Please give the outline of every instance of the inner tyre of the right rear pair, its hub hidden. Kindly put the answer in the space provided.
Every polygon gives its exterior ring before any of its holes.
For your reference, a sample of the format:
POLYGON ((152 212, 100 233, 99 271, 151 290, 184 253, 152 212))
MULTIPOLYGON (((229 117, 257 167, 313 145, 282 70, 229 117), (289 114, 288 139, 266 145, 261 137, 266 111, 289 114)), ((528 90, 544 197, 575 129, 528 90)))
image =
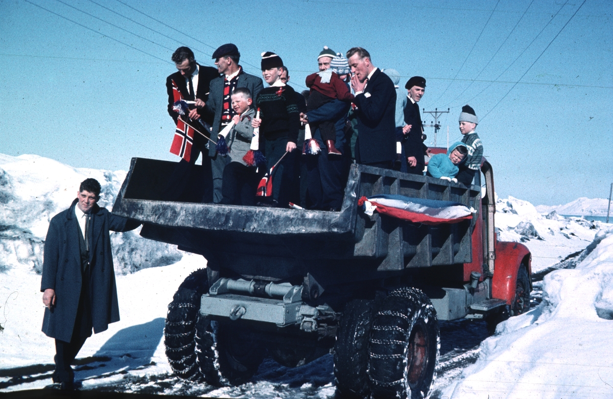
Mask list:
POLYGON ((368 338, 373 322, 373 301, 354 299, 345 306, 334 345, 337 397, 364 398, 368 387, 368 338))

